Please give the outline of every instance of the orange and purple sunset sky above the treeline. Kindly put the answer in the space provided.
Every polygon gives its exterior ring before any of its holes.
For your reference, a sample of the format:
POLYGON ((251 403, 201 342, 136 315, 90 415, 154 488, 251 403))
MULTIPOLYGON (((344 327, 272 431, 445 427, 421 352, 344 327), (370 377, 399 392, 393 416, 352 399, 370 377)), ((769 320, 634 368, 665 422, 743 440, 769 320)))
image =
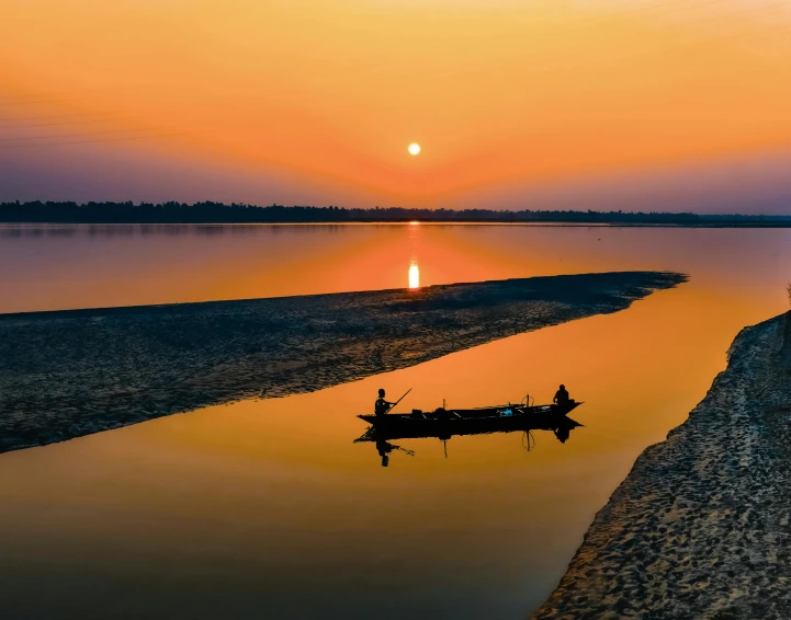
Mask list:
POLYGON ((791 0, 0 15, 0 200, 791 214, 791 0))

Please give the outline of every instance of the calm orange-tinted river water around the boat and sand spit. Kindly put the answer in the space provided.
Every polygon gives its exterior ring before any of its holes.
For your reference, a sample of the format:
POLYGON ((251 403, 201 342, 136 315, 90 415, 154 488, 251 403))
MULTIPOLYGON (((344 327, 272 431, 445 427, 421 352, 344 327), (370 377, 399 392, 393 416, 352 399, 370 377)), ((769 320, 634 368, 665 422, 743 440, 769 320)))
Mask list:
POLYGON ((691 280, 631 309, 313 394, 0 455, 4 618, 523 618, 738 330, 788 307, 791 231, 472 226, 0 228, 0 312, 580 272, 691 280), (404 409, 551 399, 585 427, 353 444, 404 409), (534 444, 533 441, 534 440, 534 444), (528 450, 526 447, 530 447, 528 450))

